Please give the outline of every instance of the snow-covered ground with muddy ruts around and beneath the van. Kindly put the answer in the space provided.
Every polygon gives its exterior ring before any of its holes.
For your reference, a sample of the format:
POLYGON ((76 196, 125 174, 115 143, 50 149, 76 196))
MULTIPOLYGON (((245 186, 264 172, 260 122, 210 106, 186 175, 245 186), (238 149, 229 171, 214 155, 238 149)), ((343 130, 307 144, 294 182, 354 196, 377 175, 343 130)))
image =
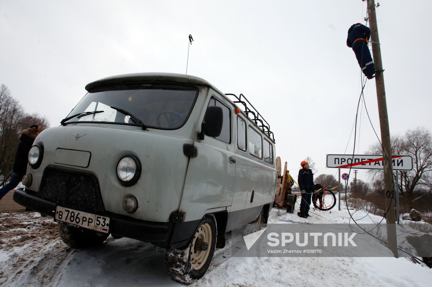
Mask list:
MULTIPOLYGON (((346 209, 299 218, 273 209, 269 223, 347 223, 346 209), (319 216, 318 216, 319 215, 319 216)), ((366 215, 356 213, 356 218, 366 215)), ((378 222, 371 215, 361 223, 378 222)), ((230 257, 216 250, 206 275, 192 286, 430 286, 432 269, 410 258, 230 257)), ((164 250, 121 238, 92 250, 72 250, 58 237, 52 218, 34 212, 0 212, 2 286, 180 286, 165 270, 164 250)))

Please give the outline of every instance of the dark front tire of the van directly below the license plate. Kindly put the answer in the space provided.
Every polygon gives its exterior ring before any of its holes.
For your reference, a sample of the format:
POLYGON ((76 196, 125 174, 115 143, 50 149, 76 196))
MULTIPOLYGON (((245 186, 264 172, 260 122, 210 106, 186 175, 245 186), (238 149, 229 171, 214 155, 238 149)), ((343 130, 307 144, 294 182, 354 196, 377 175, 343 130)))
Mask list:
POLYGON ((82 249, 102 244, 109 234, 103 234, 91 230, 83 230, 75 227, 58 224, 58 234, 67 246, 82 249))

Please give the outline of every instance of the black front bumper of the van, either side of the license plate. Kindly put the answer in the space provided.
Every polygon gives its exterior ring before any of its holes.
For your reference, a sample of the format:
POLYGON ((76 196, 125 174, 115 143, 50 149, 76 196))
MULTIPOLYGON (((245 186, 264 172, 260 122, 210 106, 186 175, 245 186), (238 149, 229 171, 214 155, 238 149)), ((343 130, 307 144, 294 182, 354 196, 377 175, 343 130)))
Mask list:
MULTIPOLYGON (((24 207, 54 218, 57 204, 38 197, 36 193, 17 188, 13 193, 13 200, 24 207)), ((83 210, 83 212, 86 211, 83 210)), ((100 215, 111 218, 111 234, 152 242, 163 248, 169 247, 172 230, 175 225, 171 222, 143 221, 111 212, 105 212, 105 214, 100 215)))

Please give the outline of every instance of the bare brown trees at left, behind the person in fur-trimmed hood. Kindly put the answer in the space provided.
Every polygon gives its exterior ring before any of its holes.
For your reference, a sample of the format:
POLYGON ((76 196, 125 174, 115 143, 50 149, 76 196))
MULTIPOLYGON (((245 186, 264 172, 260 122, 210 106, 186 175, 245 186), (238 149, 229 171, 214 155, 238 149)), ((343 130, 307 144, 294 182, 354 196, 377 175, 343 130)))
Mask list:
POLYGON ((0 186, 12 175, 19 136, 30 125, 48 127, 49 122, 38 114, 26 114, 18 100, 11 96, 10 90, 0 86, 0 186))

